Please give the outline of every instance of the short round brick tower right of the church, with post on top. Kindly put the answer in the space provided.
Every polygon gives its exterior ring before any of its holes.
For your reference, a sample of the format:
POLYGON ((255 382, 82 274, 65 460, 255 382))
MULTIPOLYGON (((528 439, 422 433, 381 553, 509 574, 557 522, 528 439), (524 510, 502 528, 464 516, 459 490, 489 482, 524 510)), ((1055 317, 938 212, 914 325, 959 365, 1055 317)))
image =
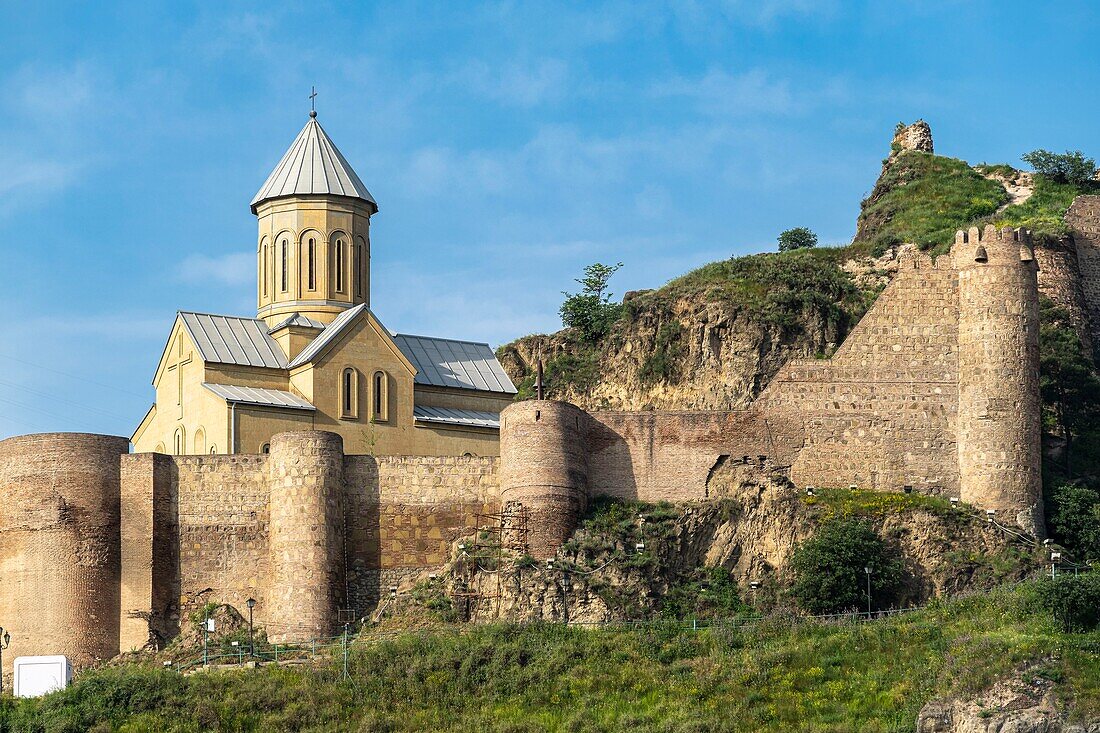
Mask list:
POLYGON ((551 557, 588 503, 588 416, 565 402, 530 400, 501 413, 501 501, 527 512, 528 551, 551 557))

